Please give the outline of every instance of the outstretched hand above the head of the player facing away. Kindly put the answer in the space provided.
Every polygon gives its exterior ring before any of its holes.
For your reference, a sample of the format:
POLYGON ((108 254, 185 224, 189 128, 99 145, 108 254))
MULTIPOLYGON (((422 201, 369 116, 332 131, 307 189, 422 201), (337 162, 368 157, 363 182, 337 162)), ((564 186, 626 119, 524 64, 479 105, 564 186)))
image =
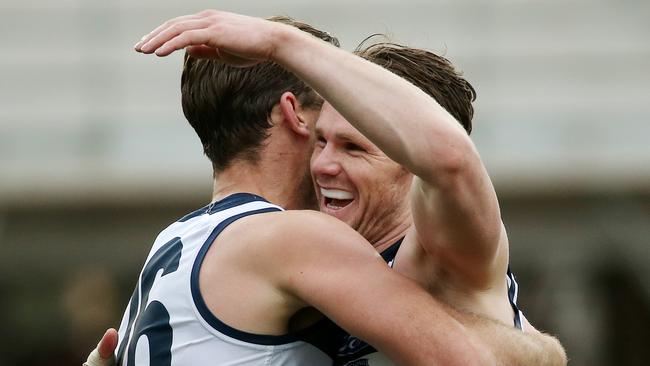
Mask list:
POLYGON ((192 56, 233 66, 252 66, 272 57, 275 34, 291 27, 261 18, 204 10, 166 21, 136 43, 136 51, 167 56, 187 47, 192 56))

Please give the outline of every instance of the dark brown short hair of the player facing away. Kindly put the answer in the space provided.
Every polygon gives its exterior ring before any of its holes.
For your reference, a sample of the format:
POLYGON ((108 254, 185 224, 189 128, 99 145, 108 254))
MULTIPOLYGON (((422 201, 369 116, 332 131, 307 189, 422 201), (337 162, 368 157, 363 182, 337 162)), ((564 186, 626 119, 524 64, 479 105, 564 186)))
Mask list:
MULTIPOLYGON (((329 33, 286 16, 269 18, 292 25, 339 46, 329 33)), ((248 68, 185 54, 181 94, 183 113, 201 139, 216 172, 236 158, 255 162, 272 127, 270 115, 284 92, 306 107, 320 108, 322 98, 297 76, 273 62, 248 68)))

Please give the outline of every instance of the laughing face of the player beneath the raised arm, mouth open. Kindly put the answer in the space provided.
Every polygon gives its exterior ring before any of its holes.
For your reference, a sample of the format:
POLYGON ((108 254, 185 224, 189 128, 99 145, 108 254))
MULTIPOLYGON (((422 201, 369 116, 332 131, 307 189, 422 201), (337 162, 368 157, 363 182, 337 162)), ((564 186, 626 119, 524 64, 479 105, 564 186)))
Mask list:
POLYGON ((325 103, 311 157, 319 209, 374 243, 409 212, 412 176, 325 103))

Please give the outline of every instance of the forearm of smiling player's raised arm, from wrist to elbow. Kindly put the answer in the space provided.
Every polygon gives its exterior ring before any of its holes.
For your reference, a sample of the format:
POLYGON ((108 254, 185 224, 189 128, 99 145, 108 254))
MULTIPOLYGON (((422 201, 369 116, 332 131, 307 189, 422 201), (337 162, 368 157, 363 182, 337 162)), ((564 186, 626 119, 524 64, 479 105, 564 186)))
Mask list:
POLYGON ((274 60, 412 173, 433 176, 469 156, 471 141, 460 124, 411 83, 300 32, 285 29, 277 38, 274 60))

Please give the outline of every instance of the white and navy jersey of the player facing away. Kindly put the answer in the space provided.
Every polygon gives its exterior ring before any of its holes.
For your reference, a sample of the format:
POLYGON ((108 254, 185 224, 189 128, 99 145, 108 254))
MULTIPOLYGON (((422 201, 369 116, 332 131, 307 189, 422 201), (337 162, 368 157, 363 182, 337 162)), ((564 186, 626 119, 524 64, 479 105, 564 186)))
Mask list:
MULTIPOLYGON (((262 197, 236 193, 163 230, 122 318, 118 364, 332 365, 329 356, 297 334, 259 335, 229 327, 201 296, 199 269, 217 235, 241 217, 280 210, 262 197)), ((301 336, 309 338, 309 328, 301 336)))

